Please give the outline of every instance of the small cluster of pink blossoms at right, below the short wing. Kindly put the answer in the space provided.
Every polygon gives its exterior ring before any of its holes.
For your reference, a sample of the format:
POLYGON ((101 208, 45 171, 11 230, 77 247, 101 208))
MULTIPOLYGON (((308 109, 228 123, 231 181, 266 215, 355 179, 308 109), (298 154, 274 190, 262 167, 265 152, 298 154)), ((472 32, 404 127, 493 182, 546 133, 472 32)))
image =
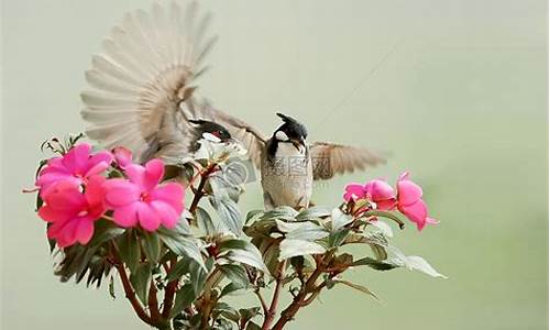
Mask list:
POLYGON ((365 185, 349 184, 343 198, 354 204, 366 200, 370 207, 383 211, 397 209, 415 222, 418 230, 422 230, 426 224, 438 223, 436 219, 428 217, 428 207, 422 200, 422 188, 409 179, 407 172, 399 176, 395 190, 385 180, 374 179, 365 185))

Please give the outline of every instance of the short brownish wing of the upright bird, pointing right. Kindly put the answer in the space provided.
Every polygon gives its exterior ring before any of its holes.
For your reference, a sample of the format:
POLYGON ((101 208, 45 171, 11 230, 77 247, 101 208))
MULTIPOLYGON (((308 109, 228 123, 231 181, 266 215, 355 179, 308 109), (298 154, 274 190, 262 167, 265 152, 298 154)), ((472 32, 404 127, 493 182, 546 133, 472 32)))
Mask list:
POLYGON ((386 161, 362 147, 316 142, 310 146, 314 179, 329 179, 336 174, 363 170, 386 161))

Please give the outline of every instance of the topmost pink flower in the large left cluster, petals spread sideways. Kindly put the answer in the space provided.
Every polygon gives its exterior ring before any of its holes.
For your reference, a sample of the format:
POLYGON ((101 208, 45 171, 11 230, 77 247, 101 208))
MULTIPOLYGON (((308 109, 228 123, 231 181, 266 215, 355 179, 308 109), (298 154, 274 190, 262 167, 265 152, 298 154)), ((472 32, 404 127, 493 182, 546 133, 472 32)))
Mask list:
POLYGON ((70 148, 63 157, 54 157, 47 162, 36 180, 44 197, 56 183, 66 182, 78 187, 97 174, 106 170, 112 162, 109 152, 90 154, 91 145, 80 143, 70 148))

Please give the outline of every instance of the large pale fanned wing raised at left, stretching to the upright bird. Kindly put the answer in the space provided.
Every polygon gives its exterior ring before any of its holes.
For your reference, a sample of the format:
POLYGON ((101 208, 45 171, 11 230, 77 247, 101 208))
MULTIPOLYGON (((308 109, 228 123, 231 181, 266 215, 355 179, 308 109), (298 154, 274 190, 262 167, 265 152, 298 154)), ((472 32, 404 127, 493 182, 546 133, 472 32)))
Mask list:
POLYGON ((250 125, 193 96, 216 42, 206 33, 209 21, 195 2, 185 9, 175 1, 167 8, 155 3, 151 12, 127 13, 86 72, 90 89, 81 94, 81 116, 91 124, 88 136, 105 147, 125 146, 139 162, 184 156, 194 119, 224 125, 252 151, 263 143, 250 125))

